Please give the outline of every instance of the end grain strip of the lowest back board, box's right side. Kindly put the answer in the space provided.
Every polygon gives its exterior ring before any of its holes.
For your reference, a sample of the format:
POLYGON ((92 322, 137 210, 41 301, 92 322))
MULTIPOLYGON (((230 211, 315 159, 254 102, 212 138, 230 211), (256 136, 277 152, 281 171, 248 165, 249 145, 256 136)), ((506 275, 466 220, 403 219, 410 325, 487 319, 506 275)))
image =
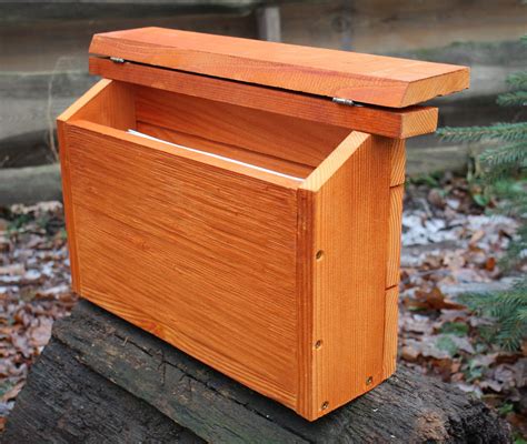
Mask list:
POLYGON ((399 332, 399 289, 386 290, 385 309, 385 356, 382 361, 382 379, 391 376, 397 366, 397 337, 399 332))

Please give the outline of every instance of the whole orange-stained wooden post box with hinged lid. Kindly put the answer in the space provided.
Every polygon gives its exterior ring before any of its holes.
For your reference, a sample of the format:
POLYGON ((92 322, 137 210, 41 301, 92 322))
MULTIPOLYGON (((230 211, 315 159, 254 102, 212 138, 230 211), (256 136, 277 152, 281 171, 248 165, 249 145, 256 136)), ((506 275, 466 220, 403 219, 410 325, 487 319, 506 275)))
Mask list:
POLYGON ((468 69, 156 28, 90 52, 58 120, 74 291, 308 420, 392 374, 405 139, 468 69))

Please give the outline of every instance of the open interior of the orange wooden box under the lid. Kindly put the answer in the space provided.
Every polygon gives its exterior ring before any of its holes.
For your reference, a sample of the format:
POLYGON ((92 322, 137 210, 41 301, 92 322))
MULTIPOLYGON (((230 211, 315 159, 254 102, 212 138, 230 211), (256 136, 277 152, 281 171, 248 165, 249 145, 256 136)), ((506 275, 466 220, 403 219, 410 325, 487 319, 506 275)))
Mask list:
POLYGON ((78 118, 287 175, 298 184, 350 132, 346 128, 118 81, 111 81, 93 101, 90 105, 95 112, 78 118))

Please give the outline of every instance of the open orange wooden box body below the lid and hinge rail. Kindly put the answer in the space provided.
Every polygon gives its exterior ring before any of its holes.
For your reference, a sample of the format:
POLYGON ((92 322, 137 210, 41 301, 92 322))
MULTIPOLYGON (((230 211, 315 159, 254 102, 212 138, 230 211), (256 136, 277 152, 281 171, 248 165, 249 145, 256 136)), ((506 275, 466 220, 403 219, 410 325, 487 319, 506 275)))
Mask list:
POLYGON ((103 80, 61 117, 76 290, 309 420, 379 384, 386 139, 341 140, 305 121, 274 131, 267 113, 259 122, 221 103, 207 113, 202 99, 183 97, 179 108, 179 95, 166 94, 103 80), (148 98, 162 118, 146 111, 148 98), (229 119, 239 133, 223 128, 229 119), (299 135, 317 129, 319 151, 307 141, 302 152, 299 135))

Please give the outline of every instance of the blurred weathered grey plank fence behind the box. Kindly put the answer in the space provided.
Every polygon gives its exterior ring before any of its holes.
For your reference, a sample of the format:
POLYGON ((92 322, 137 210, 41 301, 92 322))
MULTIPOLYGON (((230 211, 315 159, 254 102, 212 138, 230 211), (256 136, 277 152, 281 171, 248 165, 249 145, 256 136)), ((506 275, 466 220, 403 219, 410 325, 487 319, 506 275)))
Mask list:
MULTIPOLYGON (((0 1, 0 204, 57 199, 54 119, 98 79, 96 32, 157 26, 471 67, 471 88, 440 104, 440 125, 517 118, 496 105, 518 57, 527 8, 518 0, 0 1)), ((410 174, 463 170, 467 150, 410 141, 410 174)))

